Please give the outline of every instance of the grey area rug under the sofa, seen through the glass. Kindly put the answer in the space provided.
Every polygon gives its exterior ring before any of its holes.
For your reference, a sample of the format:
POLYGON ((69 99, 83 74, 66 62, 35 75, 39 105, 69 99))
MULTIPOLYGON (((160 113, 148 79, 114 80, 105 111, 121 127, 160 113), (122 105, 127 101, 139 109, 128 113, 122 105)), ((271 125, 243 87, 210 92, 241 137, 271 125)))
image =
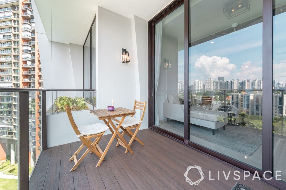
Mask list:
MULTIPOLYGON (((181 122, 170 127, 184 131, 181 122)), ((244 126, 226 125, 225 130, 221 127, 212 135, 210 128, 191 125, 191 135, 249 156, 262 144, 262 130, 244 126)))

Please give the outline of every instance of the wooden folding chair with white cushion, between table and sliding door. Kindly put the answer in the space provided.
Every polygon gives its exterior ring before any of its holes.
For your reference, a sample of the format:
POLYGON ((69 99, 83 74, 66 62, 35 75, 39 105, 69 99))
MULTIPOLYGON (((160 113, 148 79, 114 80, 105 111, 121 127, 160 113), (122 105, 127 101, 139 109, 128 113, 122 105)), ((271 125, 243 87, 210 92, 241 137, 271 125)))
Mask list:
MULTIPOLYGON (((146 105, 147 105, 146 101, 145 102, 139 102, 139 101, 135 100, 133 111, 135 111, 135 109, 142 110, 142 115, 141 115, 140 120, 136 119, 135 117, 133 117, 134 115, 132 115, 131 117, 126 118, 121 124, 120 128, 123 130, 121 135, 123 136, 124 134, 127 134, 131 138, 129 143, 128 143, 129 146, 132 144, 132 142, 134 140, 139 142, 141 145, 144 145, 144 143, 139 138, 136 137, 136 134, 138 133, 139 128, 141 126, 141 123, 142 123, 142 120, 143 120, 143 117, 145 114, 145 110, 146 110, 146 105), (135 128, 136 128, 136 130, 133 133, 131 131, 131 129, 135 129, 135 128)), ((119 124, 118 120, 114 120, 114 121, 116 124, 119 124)), ((125 147, 123 142, 118 137, 116 137, 116 139, 118 140, 116 146, 118 146, 120 144, 121 146, 125 147)), ((127 153, 127 152, 128 152, 128 149, 126 148, 125 153, 127 153)))

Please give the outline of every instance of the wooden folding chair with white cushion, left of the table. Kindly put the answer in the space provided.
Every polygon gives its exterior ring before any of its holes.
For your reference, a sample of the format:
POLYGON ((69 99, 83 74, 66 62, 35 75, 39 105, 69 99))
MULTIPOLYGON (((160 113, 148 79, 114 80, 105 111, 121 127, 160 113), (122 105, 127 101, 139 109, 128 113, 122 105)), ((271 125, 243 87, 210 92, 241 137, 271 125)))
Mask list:
POLYGON ((80 126, 78 127, 76 123, 74 122, 74 118, 72 117, 71 109, 68 105, 65 105, 65 110, 67 112, 67 116, 69 117, 69 122, 72 125, 72 128, 74 129, 74 132, 76 133, 76 136, 82 141, 82 145, 78 150, 72 155, 72 157, 69 159, 69 161, 74 160, 74 166, 70 171, 74 171, 80 162, 86 157, 88 152, 90 153, 94 152, 96 156, 101 158, 102 150, 98 146, 98 142, 100 141, 101 137, 103 136, 104 132, 108 130, 108 127, 103 123, 96 123, 92 125, 86 125, 86 126, 80 126), (91 138, 96 138, 93 142, 90 140, 91 138), (80 159, 76 158, 76 155, 86 146, 88 149, 84 154, 80 157, 80 159))

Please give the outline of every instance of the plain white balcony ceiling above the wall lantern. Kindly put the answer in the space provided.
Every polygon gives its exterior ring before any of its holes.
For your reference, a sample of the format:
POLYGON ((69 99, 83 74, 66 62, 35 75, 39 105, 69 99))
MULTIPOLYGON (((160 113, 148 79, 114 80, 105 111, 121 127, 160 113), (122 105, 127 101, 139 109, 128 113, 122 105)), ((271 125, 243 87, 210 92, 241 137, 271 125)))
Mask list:
POLYGON ((100 6, 122 16, 150 20, 172 0, 35 0, 49 40, 83 45, 100 6))

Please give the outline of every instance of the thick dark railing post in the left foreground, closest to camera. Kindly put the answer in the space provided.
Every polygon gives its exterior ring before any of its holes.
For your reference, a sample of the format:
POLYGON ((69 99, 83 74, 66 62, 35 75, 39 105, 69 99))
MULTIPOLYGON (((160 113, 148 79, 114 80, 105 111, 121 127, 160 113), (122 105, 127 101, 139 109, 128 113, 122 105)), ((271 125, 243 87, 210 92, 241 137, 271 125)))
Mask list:
POLYGON ((29 189, 29 92, 19 92, 18 189, 29 189))

